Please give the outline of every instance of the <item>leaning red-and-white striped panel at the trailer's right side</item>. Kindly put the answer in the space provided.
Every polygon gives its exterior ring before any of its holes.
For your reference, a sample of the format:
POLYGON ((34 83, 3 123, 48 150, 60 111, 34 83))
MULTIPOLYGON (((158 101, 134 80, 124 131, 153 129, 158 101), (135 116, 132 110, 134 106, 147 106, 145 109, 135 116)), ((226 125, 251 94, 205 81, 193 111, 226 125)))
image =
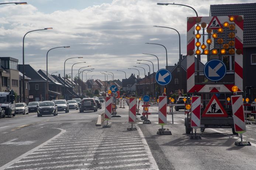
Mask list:
POLYGON ((245 114, 243 113, 242 95, 232 95, 231 104, 232 104, 235 132, 244 133, 246 132, 246 126, 245 126, 245 114))

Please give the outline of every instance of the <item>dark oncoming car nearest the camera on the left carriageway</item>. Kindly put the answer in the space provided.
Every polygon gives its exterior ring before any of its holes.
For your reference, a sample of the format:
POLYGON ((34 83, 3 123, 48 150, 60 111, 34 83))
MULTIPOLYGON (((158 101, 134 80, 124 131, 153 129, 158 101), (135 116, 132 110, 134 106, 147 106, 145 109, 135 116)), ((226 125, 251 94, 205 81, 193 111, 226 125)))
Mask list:
POLYGON ((53 101, 41 102, 37 109, 37 117, 42 117, 42 115, 58 115, 57 105, 53 101))

